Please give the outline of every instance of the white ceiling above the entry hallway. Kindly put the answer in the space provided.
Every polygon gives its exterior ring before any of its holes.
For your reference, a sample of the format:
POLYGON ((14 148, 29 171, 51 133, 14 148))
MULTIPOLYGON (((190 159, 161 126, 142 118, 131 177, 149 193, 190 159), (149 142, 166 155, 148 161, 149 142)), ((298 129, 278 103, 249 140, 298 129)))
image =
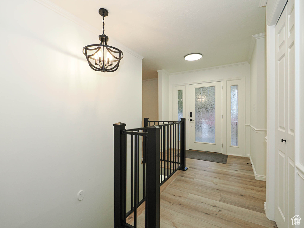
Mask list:
MULTIPOLYGON (((265 32, 260 0, 51 0, 144 57, 143 79, 157 70, 194 70, 247 61, 251 36, 265 32), (197 61, 184 56, 202 53, 197 61)), ((101 32, 102 34, 102 32, 101 32)), ((96 37, 98 39, 98 37, 96 37)))

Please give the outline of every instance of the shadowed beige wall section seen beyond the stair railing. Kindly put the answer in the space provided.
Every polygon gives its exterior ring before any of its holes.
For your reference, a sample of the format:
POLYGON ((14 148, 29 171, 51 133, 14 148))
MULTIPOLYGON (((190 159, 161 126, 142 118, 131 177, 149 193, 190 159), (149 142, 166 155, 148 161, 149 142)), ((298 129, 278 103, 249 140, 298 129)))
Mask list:
POLYGON ((143 80, 143 118, 158 120, 158 79, 143 80))

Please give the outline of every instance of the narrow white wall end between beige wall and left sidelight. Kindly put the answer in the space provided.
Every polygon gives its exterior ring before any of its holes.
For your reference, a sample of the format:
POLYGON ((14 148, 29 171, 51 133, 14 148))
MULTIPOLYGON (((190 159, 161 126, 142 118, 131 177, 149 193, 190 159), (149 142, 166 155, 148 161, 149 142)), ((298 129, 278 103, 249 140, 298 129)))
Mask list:
POLYGON ((169 116, 169 73, 165 70, 158 72, 158 120, 170 120, 169 116))

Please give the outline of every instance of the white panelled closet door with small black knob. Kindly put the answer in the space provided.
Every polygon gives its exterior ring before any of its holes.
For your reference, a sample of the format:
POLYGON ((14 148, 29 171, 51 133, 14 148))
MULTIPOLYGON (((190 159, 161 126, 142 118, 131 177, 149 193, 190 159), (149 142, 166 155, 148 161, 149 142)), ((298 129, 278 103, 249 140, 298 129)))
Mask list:
POLYGON ((289 0, 276 25, 275 221, 292 227, 294 216, 294 10, 289 0), (286 141, 285 141, 286 140, 286 141))

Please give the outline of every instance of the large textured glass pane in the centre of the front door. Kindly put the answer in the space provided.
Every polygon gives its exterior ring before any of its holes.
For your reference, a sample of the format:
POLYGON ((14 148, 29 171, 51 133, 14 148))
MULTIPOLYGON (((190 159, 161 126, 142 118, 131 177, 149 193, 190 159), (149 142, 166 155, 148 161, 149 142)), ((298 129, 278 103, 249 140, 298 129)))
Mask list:
POLYGON ((195 141, 215 143, 215 87, 195 88, 195 141))

